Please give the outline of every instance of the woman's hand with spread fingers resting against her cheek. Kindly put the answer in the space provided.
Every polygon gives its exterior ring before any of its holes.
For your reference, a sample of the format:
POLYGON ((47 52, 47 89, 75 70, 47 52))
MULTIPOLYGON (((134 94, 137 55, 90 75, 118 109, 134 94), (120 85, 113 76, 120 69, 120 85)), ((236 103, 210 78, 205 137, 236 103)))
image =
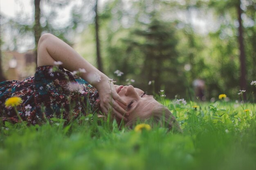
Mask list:
POLYGON ((103 113, 108 114, 108 112, 110 111, 114 113, 118 119, 124 119, 125 121, 127 121, 127 118, 124 116, 128 116, 129 114, 126 110, 124 110, 124 108, 119 106, 116 101, 124 104, 124 106, 126 106, 127 104, 117 94, 113 82, 111 80, 101 80, 101 82, 97 86, 97 90, 99 92, 100 106, 103 113))

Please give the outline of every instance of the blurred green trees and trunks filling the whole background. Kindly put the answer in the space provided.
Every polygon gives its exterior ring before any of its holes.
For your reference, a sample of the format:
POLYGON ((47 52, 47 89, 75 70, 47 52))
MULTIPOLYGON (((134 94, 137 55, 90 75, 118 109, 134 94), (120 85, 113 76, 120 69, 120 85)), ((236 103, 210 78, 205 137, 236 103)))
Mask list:
POLYGON ((33 20, 3 16, 1 36, 13 33, 2 51, 18 50, 17 42, 29 38, 34 41, 27 46, 36 50, 39 35, 49 32, 119 84, 194 99, 197 82, 203 82, 202 100, 214 101, 220 93, 238 99, 240 89, 253 100, 254 0, 34 0, 31 5, 36 2, 40 8, 31 11, 33 20), (67 7, 70 19, 61 24, 58 11, 67 7), (124 75, 117 77, 115 70, 124 75))

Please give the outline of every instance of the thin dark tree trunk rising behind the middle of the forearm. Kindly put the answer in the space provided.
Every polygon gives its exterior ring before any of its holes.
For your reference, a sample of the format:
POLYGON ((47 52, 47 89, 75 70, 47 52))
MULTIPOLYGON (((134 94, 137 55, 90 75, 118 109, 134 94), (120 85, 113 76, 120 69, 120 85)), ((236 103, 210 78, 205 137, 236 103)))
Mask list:
POLYGON ((101 61, 100 42, 99 42, 99 16, 98 16, 98 0, 95 2, 95 35, 96 35, 96 50, 97 50, 97 64, 99 71, 103 72, 103 66, 101 61))

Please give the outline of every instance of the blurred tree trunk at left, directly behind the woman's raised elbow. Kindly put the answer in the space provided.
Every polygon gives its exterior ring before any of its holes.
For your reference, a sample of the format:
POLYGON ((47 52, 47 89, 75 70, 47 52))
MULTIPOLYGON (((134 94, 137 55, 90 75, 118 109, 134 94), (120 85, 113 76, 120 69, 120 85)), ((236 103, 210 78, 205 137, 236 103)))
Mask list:
POLYGON ((35 37, 35 56, 36 56, 36 66, 37 66, 37 47, 38 47, 38 41, 42 33, 42 28, 40 24, 40 0, 34 0, 35 5, 35 22, 34 22, 34 37, 35 37))

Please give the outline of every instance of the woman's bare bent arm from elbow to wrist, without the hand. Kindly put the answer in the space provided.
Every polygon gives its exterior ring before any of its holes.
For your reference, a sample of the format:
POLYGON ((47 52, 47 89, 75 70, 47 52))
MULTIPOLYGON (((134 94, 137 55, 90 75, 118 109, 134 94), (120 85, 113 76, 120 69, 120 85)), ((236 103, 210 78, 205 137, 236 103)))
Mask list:
POLYGON ((79 68, 84 68, 86 73, 79 75, 96 88, 100 88, 100 82, 109 80, 105 74, 87 62, 71 46, 52 34, 44 34, 38 43, 38 66, 53 65, 54 61, 61 61, 62 66, 68 71, 78 71, 79 68))

